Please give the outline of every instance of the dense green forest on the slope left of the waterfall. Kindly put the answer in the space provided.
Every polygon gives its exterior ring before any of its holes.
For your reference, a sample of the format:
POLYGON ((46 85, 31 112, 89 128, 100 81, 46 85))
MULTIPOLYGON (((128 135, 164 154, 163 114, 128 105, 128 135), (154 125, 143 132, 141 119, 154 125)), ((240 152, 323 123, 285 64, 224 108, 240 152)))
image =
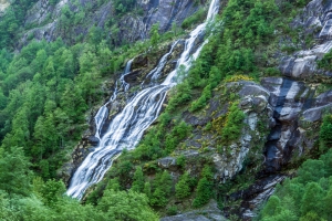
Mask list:
POLYGON ((1 147, 23 147, 35 170, 52 178, 85 128, 84 113, 101 98, 112 53, 103 44, 95 51, 58 40, 32 42, 10 60, 2 55, 1 147))

